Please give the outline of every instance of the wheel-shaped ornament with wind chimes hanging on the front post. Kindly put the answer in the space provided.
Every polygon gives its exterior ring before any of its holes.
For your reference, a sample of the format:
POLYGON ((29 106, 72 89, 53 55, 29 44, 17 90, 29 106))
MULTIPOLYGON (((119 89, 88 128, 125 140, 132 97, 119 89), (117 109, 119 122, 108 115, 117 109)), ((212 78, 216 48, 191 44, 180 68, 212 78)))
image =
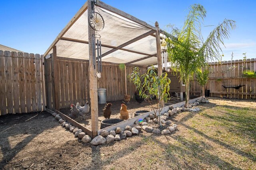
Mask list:
MULTIPOLYGON (((94 6, 94 4, 96 4, 96 1, 93 1, 92 3, 94 6)), ((96 6, 95 6, 95 9, 96 9, 96 6)), ((98 61, 96 76, 98 78, 101 78, 101 72, 102 72, 101 41, 100 41, 101 36, 98 33, 98 31, 101 31, 104 28, 105 23, 102 16, 98 12, 92 12, 92 14, 89 16, 88 22, 90 27, 92 27, 92 29, 96 31, 95 34, 92 35, 92 46, 94 47, 94 50, 92 51, 92 55, 93 55, 92 58, 93 58, 94 69, 96 69, 96 60, 98 61), (95 50, 97 50, 97 58, 96 58, 95 50)))

